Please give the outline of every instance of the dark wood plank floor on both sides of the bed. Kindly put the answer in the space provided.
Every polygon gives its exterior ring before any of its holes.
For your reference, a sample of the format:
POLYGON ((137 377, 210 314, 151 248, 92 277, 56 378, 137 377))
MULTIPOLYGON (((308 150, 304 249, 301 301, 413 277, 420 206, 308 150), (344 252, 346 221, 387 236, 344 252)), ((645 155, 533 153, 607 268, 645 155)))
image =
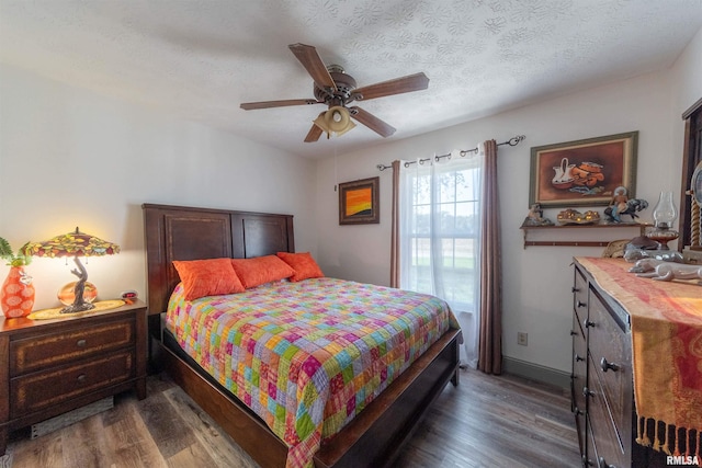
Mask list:
MULTIPOLYGON (((462 370, 432 406, 396 467, 577 467, 567 393, 513 377, 462 370)), ((35 440, 13 434, 0 467, 256 467, 168 378, 148 397, 35 440), (4 461, 4 463, 2 463, 4 461)))

